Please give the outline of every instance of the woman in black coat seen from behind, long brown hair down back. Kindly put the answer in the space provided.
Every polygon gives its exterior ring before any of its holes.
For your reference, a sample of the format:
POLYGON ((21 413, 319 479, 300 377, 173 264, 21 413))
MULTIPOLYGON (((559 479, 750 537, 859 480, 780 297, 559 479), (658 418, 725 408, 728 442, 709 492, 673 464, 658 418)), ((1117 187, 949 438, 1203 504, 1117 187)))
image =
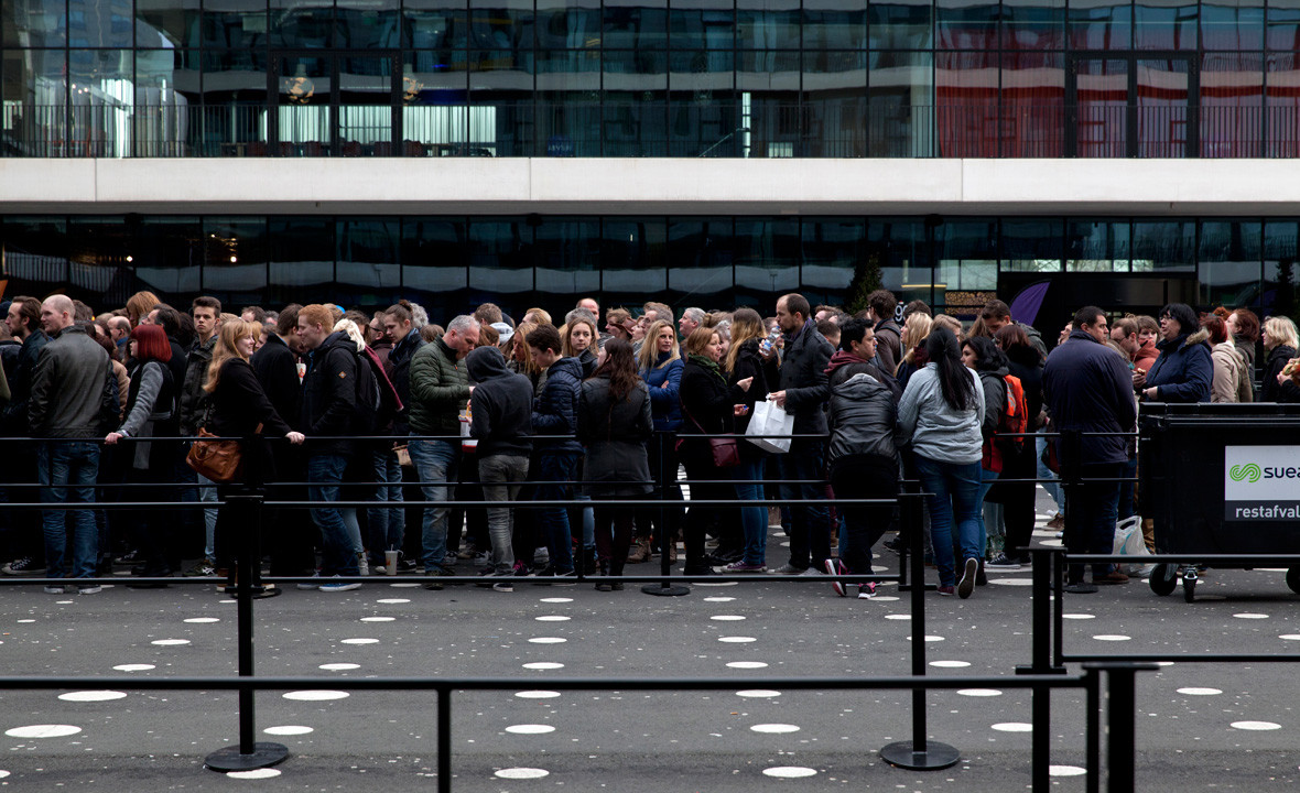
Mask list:
MULTIPOLYGON (((593 499, 645 498, 651 491, 646 441, 654 432, 650 393, 637 376, 632 344, 610 339, 604 363, 582 382, 577 437, 586 447, 582 490, 593 499)), ((595 507, 595 552, 601 575, 621 576, 632 545, 633 507, 595 507)), ((621 582, 597 590, 623 589, 621 582)))

